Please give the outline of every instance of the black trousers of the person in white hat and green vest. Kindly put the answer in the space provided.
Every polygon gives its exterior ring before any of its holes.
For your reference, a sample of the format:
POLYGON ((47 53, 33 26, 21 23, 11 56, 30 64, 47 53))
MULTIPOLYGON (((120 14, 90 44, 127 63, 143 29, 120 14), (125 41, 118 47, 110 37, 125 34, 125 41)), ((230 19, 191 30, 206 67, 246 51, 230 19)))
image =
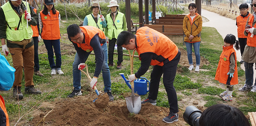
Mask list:
MULTIPOLYGON (((112 38, 112 40, 109 40, 109 64, 113 64, 113 55, 114 55, 114 49, 116 45, 116 38, 112 38)), ((123 62, 123 47, 118 46, 118 62, 117 64, 121 64, 123 62)))

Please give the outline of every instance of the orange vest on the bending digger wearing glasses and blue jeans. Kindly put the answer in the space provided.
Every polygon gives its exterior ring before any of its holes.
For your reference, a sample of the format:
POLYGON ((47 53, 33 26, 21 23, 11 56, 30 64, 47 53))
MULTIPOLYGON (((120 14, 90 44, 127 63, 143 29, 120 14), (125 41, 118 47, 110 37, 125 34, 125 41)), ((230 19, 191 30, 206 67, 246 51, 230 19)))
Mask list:
MULTIPOLYGON (((78 47, 82 48, 86 52, 91 52, 93 50, 93 48, 90 45, 90 42, 95 35, 99 35, 101 39, 106 39, 106 36, 104 35, 103 31, 101 31, 99 28, 93 26, 81 26, 80 29, 83 31, 83 33, 85 33, 85 43, 78 44, 74 41, 73 42, 76 43, 78 47)), ((100 45, 102 46, 103 44, 100 45)))

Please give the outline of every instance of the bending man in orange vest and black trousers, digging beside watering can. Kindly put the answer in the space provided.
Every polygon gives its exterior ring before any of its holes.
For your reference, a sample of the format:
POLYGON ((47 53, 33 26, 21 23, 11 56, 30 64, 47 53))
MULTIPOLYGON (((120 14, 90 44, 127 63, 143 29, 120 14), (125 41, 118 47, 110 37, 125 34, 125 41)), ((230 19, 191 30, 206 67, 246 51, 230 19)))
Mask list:
POLYGON ((135 74, 129 76, 133 81, 144 75, 153 65, 149 87, 149 96, 141 102, 156 105, 157 93, 160 78, 163 75, 163 83, 168 96, 170 114, 163 118, 165 123, 178 121, 178 100, 173 81, 176 75, 180 51, 168 37, 149 27, 142 27, 137 30, 136 35, 128 31, 122 31, 117 38, 117 45, 127 50, 136 49, 141 60, 141 66, 135 74))

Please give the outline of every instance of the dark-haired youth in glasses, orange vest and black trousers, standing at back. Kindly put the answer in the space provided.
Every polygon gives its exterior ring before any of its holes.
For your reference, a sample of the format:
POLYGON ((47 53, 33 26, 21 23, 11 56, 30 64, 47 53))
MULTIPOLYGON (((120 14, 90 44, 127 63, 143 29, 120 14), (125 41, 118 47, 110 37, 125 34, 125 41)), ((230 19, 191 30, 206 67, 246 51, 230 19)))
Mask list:
MULTIPOLYGON (((244 35, 244 29, 246 26, 246 21, 248 19, 249 16, 251 16, 252 14, 250 14, 248 12, 248 5, 246 3, 242 3, 239 6, 239 10, 240 10, 240 15, 237 16, 237 35, 238 35, 238 40, 239 40, 239 45, 240 45, 240 52, 241 52, 241 56, 244 52, 244 47, 246 45, 246 41, 247 41, 247 36, 244 35)), ((241 59, 240 61, 241 64, 244 63, 244 60, 241 59)))

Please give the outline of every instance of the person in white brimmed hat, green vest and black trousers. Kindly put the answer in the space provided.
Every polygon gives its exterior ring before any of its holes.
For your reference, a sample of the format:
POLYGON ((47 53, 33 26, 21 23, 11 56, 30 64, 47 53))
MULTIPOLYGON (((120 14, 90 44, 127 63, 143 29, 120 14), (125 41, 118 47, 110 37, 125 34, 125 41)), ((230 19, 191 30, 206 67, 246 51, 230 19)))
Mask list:
MULTIPOLYGON (((114 66, 113 55, 114 55, 114 47, 116 45, 116 39, 121 33, 121 31, 127 31, 127 24, 125 19, 125 14, 119 12, 118 4, 116 0, 111 0, 107 7, 110 7, 111 13, 107 14, 106 22, 107 27, 105 28, 105 35, 109 37, 109 66, 114 66)), ((118 62, 117 69, 121 69, 123 62, 123 47, 118 46, 118 62)))

